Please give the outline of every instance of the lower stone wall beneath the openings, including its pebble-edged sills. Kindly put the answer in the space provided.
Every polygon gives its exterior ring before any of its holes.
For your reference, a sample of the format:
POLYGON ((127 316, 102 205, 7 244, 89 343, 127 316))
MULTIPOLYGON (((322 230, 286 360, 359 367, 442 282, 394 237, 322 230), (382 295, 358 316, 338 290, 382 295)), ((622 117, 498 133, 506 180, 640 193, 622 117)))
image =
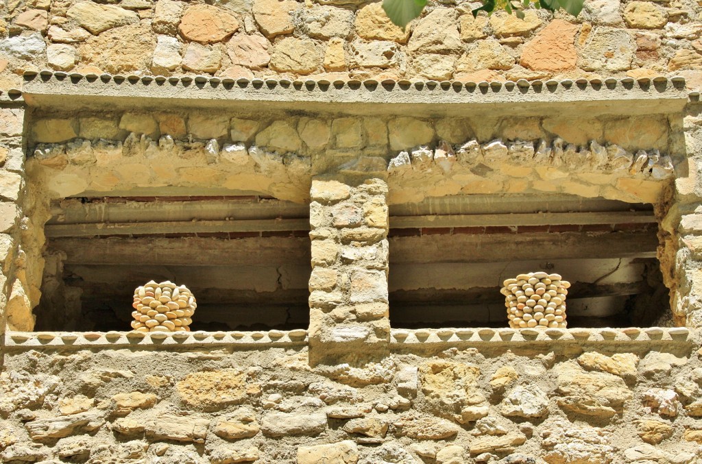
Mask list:
POLYGON ((299 332, 14 333, 0 377, 0 456, 6 463, 702 460, 698 331, 393 331, 385 357, 359 359, 369 354, 359 349, 317 366, 299 332))

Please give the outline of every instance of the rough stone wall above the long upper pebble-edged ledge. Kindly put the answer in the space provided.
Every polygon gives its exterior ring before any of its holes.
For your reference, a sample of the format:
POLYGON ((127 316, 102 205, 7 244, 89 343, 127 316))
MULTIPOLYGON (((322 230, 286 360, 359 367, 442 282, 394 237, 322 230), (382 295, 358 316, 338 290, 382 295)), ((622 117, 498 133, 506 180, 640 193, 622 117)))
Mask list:
POLYGON ((214 74, 315 79, 649 78, 698 84, 700 7, 692 1, 588 0, 578 18, 528 11, 490 18, 432 2, 402 31, 357 0, 31 0, 3 6, 0 88, 25 69, 83 74, 214 74))

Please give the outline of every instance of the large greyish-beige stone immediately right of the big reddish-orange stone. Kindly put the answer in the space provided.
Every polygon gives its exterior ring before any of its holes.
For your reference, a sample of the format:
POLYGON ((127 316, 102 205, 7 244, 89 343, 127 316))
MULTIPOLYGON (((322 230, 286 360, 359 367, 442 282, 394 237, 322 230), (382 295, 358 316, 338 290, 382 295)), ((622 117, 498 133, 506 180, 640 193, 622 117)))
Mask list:
POLYGON ((635 42, 625 29, 595 27, 580 47, 578 66, 585 71, 625 71, 631 68, 635 49, 635 42))

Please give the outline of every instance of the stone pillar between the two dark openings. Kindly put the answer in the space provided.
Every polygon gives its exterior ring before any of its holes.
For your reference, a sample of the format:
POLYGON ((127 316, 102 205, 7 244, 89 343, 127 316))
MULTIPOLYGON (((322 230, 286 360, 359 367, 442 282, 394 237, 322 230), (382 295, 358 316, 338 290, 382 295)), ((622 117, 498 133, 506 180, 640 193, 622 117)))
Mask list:
POLYGON ((382 356, 388 319, 388 184, 312 180, 310 359, 382 356))

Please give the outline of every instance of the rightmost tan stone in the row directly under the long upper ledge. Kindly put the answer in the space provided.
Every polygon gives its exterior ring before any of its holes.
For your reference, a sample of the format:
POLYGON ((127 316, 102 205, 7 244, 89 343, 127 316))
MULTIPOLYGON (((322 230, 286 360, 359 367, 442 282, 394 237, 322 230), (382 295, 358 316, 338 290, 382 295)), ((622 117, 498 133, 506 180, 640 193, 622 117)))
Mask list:
POLYGON ((625 150, 665 150, 668 124, 658 117, 627 118, 610 121, 604 126, 604 138, 625 150))

